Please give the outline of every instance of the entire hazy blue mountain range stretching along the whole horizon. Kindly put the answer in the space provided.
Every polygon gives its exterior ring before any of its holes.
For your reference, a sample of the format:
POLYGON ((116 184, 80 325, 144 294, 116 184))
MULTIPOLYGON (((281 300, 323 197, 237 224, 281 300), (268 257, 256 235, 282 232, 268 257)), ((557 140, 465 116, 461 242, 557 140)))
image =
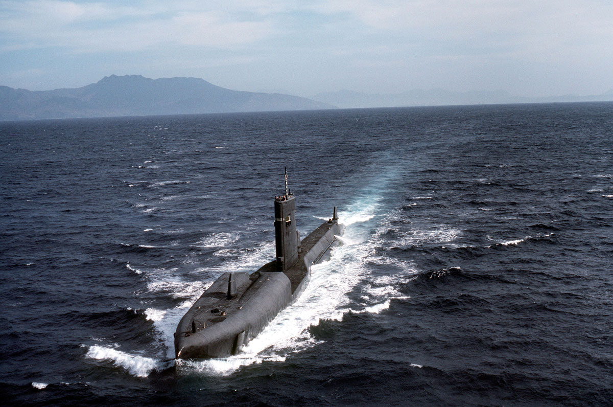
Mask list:
POLYGON ((613 101, 613 90, 600 95, 546 98, 514 96, 502 90, 414 89, 387 94, 340 90, 307 99, 230 90, 198 78, 111 75, 81 88, 29 91, 0 86, 0 120, 580 101, 613 101))

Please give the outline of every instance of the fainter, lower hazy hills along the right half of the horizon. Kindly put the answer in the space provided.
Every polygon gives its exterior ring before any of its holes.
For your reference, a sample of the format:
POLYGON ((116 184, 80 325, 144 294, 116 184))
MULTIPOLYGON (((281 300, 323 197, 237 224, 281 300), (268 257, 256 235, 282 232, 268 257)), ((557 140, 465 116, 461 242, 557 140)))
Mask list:
POLYGON ((613 90, 600 95, 563 95, 546 98, 525 98, 497 91, 453 92, 443 89, 414 89, 403 93, 368 94, 349 90, 319 93, 313 99, 341 108, 351 107, 396 107, 396 106, 443 106, 453 104, 498 104, 498 103, 547 103, 547 102, 596 102, 613 101, 613 90))

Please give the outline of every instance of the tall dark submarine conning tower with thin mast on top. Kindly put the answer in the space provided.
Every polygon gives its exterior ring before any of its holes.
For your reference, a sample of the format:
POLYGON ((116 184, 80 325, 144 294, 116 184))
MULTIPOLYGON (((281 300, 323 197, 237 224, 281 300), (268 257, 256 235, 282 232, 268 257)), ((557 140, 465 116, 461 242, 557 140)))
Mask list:
POLYGON ((275 246, 276 271, 287 271, 298 261, 300 238, 296 231, 294 196, 287 188, 285 171, 285 195, 275 198, 275 246))

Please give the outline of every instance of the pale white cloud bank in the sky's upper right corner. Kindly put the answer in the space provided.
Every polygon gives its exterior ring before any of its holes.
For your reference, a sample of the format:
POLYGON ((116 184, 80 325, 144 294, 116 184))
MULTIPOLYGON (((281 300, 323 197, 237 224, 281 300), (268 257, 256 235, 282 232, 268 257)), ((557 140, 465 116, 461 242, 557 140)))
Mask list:
POLYGON ((548 42, 555 47, 613 39, 613 2, 601 0, 336 0, 311 7, 426 44, 487 48, 548 42))

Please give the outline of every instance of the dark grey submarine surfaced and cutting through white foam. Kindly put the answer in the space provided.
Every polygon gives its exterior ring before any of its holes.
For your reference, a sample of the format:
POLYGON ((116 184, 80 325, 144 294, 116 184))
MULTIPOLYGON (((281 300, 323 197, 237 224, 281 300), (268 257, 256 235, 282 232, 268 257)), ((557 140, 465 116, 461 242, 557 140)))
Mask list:
POLYGON ((275 197, 276 258, 253 273, 227 271, 205 290, 183 316, 174 333, 175 359, 209 359, 236 355, 283 308, 303 292, 311 265, 329 254, 345 231, 332 218, 300 241, 295 198, 287 187, 275 197))

